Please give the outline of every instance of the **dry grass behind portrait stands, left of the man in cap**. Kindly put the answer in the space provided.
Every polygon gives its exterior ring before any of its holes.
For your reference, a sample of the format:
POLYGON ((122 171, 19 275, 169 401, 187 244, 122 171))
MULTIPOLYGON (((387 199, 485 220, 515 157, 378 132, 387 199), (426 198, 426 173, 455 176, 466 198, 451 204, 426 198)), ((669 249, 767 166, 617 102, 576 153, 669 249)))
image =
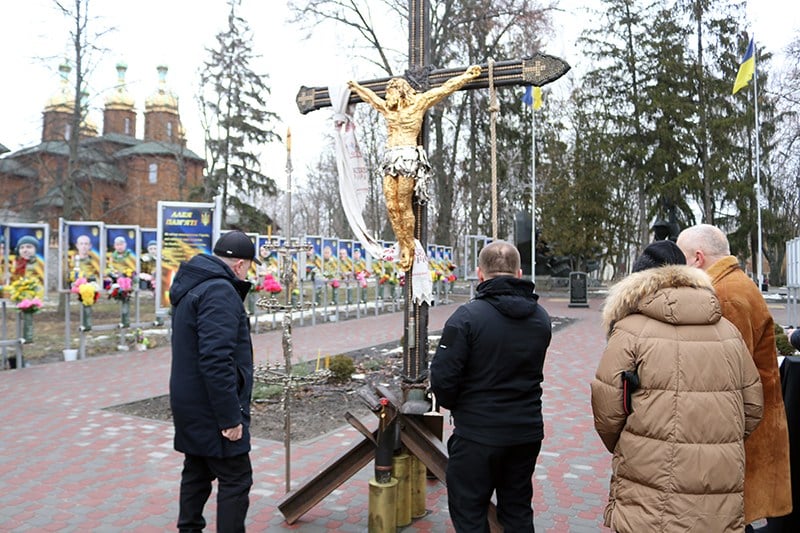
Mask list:
MULTIPOLYGON (((6 338, 17 336, 17 315, 10 302, 6 306, 6 338)), ((80 342, 80 304, 74 299, 70 300, 69 305, 70 331, 69 347, 78 348, 80 342)), ((101 325, 116 325, 119 323, 120 304, 116 300, 109 300, 101 297, 92 308, 93 327, 101 325)), ((86 334, 86 356, 109 354, 119 351, 119 345, 130 346, 133 349, 133 332, 136 330, 136 305, 135 300, 131 299, 130 320, 132 327, 120 330, 92 330, 86 334)), ((142 330, 154 328, 155 302, 150 292, 141 292, 139 296, 139 321, 143 323, 142 330)), ((67 347, 65 340, 66 313, 58 311, 57 297, 50 298, 45 307, 33 316, 33 343, 23 346, 23 356, 26 364, 36 365, 53 361, 63 361, 63 353, 67 347)), ((2 324, 0 324, 2 328, 2 324)), ((0 329, 0 335, 2 335, 0 329)), ((165 342, 163 335, 148 334, 150 347, 165 342)), ((14 357, 14 348, 8 348, 8 357, 14 357)))

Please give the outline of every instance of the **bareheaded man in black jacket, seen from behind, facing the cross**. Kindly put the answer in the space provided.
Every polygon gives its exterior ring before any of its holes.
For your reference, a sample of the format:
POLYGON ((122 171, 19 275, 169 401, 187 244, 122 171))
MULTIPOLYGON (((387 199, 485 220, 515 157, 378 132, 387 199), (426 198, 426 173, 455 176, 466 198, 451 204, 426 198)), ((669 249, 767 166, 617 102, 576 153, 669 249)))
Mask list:
POLYGON ((488 532, 497 492, 505 531, 533 531, 533 470, 542 423, 542 369, 552 330, 519 252, 505 241, 478 257, 475 299, 447 320, 430 383, 455 429, 447 441, 447 502, 458 533, 488 532))

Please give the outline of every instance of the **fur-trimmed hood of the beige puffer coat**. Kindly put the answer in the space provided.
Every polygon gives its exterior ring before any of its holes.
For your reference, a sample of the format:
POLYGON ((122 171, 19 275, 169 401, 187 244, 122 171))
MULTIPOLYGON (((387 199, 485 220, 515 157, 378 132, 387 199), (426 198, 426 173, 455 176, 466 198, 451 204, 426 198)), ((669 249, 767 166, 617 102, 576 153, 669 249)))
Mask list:
POLYGON ((606 334, 633 313, 670 324, 714 324, 722 317, 711 278, 685 265, 635 272, 611 287, 603 306, 606 334))

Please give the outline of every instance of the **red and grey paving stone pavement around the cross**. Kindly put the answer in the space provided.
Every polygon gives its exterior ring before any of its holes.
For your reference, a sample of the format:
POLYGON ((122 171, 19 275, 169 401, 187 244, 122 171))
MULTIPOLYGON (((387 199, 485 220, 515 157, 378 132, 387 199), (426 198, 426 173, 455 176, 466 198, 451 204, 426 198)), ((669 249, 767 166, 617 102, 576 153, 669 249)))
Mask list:
MULTIPOLYGON (((534 474, 535 524, 540 532, 596 532, 603 529, 610 467, 589 403, 589 382, 605 343, 601 300, 590 300, 588 309, 570 308, 565 298, 541 302, 552 316, 575 321, 554 335, 547 357, 546 437, 534 474)), ((431 308, 429 331, 441 329, 454 309, 431 308)), ((402 313, 393 313, 296 327, 295 357, 389 342, 400 336, 402 322, 402 313)), ((257 362, 282 358, 279 331, 254 338, 257 362)), ((169 348, 162 347, 0 372, 0 531, 174 530, 182 456, 172 449, 172 425, 104 410, 166 394, 169 357, 169 348)), ((361 438, 343 421, 331 434, 292 443, 292 488, 361 438)), ((255 439, 251 457, 250 531, 367 530, 371 464, 290 526, 277 509, 286 483, 283 443, 255 439)), ((214 531, 214 497, 206 508, 209 531, 214 531)), ((436 481, 428 482, 427 509, 402 531, 453 530, 446 489, 436 481)))

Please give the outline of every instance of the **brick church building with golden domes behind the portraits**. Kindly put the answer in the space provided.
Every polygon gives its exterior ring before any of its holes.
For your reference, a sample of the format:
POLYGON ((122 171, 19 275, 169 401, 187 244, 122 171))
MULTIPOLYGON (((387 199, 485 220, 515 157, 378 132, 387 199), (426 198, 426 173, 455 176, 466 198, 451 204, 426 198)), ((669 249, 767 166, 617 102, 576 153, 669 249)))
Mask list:
MULTIPOLYGON (((78 136, 72 197, 84 213, 73 219, 155 227, 158 200, 198 201, 205 161, 186 147, 178 98, 159 66, 158 86, 144 105, 144 135, 137 137, 135 99, 125 83, 127 67, 117 65, 116 87, 106 96, 102 134, 85 117, 72 131, 75 86, 70 67, 59 68, 61 85, 42 113, 36 146, 0 155, 0 210, 9 222, 47 222, 53 230, 64 216, 62 188, 70 139, 78 136)), ((2 149, 0 149, 2 153, 2 149)))

